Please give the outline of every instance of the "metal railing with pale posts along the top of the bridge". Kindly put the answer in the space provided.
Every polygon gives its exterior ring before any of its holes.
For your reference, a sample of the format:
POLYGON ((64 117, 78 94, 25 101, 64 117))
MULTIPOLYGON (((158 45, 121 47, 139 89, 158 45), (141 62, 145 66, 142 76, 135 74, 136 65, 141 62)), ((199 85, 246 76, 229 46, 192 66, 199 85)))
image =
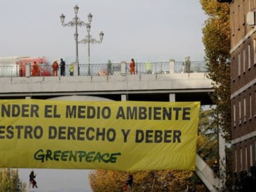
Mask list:
MULTIPOLYGON (((70 76, 70 65, 65 66, 65 76, 70 76)), ((170 62, 137 62, 135 64, 136 74, 161 74, 170 73, 170 62)), ((75 70, 75 69, 74 69, 75 70)), ((79 76, 96 75, 129 75, 129 63, 121 62, 108 64, 79 64, 79 76)), ((207 66, 203 61, 174 62, 174 73, 205 73, 208 72, 207 66)), ((52 76, 52 68, 49 64, 38 65, 38 72, 35 73, 33 65, 20 67, 20 65, 1 65, 0 77, 35 77, 52 76), (25 70, 29 70, 26 72, 25 70)), ((58 76, 60 76, 60 69, 58 76)))

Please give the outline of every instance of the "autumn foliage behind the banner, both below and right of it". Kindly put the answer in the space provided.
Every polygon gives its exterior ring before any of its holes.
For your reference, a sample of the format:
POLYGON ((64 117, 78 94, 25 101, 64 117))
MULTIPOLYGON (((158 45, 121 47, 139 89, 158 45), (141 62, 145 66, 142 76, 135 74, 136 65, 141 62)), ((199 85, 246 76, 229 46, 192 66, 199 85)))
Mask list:
MULTIPOLYGON (((218 159, 217 132, 213 109, 201 111, 198 125, 197 153, 213 167, 218 159)), ((124 191, 128 172, 93 170, 89 180, 92 190, 124 191)), ((134 192, 139 191, 207 191, 197 175, 186 170, 161 170, 133 172, 134 192)))

